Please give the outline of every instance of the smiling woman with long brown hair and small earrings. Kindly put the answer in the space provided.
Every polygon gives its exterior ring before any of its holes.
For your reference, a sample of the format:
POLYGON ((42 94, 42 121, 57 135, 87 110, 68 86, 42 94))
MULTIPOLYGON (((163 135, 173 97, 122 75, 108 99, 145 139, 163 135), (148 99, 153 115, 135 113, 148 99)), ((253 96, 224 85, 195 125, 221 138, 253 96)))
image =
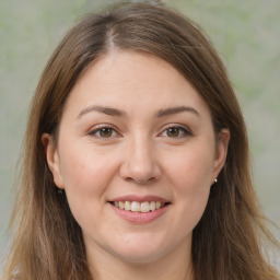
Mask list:
POLYGON ((74 26, 24 151, 3 279, 279 279, 238 103, 177 12, 120 4, 74 26))

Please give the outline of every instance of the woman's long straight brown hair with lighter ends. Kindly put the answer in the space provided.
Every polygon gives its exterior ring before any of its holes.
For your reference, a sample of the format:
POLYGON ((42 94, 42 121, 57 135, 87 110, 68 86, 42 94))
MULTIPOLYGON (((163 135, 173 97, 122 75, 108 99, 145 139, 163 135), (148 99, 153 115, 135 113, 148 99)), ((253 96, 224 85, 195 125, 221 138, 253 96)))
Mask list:
POLYGON ((58 195, 42 135, 56 136, 63 104, 80 77, 110 49, 141 51, 175 67, 208 104, 214 131, 229 128, 225 165, 192 233, 196 280, 276 280, 265 243, 277 245, 252 185, 248 140, 238 102, 211 44, 188 19, 160 4, 126 3, 86 15, 63 38, 37 86, 30 114, 4 280, 93 279, 82 232, 58 195))

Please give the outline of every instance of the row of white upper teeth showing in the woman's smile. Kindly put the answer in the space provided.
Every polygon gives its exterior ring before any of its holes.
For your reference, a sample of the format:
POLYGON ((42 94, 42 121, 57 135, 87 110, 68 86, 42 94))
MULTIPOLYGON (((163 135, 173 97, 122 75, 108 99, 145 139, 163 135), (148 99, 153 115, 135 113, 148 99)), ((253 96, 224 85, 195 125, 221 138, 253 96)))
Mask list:
POLYGON ((164 205, 165 202, 161 202, 161 201, 151 201, 151 202, 114 201, 114 206, 119 209, 125 209, 127 211, 132 211, 132 212, 142 212, 142 213, 159 210, 164 205))

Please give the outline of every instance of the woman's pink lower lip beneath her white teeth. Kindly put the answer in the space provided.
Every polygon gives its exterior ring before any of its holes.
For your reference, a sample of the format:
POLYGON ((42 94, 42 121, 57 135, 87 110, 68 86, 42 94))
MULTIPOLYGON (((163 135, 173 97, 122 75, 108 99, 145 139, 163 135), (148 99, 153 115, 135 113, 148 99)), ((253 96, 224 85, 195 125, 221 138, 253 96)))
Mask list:
POLYGON ((166 205, 163 208, 160 208, 158 210, 150 211, 147 213, 127 211, 124 209, 119 209, 119 208, 115 207, 114 205, 110 205, 110 207, 116 211, 116 213, 120 218, 122 218, 126 221, 129 221, 132 223, 149 223, 149 222, 152 222, 155 219, 160 218, 161 215, 163 215, 166 212, 170 205, 166 205))

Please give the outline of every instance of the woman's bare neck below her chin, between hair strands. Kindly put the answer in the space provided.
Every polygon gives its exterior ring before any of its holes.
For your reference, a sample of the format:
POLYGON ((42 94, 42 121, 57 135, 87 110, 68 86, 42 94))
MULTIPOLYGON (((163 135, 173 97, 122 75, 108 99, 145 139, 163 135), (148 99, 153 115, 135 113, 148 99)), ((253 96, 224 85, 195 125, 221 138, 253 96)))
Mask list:
POLYGON ((93 246, 88 259, 95 280, 194 280, 189 244, 179 244, 167 256, 144 264, 126 261, 93 246))

